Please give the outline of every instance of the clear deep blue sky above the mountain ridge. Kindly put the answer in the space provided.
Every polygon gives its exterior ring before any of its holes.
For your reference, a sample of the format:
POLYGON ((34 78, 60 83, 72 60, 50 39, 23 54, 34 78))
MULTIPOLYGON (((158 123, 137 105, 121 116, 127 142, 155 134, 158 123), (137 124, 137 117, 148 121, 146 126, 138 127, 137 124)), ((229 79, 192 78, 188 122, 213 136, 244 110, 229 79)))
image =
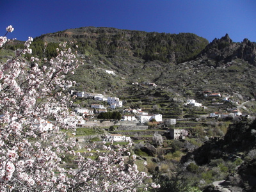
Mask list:
POLYGON ((95 26, 256 42, 255 0, 1 0, 0 7, 0 35, 12 25, 8 38, 18 40, 95 26))

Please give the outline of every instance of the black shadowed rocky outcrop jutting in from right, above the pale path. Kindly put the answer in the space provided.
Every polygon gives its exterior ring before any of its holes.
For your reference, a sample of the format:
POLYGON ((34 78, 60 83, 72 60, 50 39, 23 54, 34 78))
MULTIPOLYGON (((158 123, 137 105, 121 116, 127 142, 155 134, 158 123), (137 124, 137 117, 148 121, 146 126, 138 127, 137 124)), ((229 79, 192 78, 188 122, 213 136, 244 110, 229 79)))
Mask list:
POLYGON ((256 147, 255 136, 252 130, 256 129, 256 120, 241 120, 228 127, 224 138, 211 138, 202 147, 183 156, 181 161, 192 159, 199 165, 207 164, 212 159, 236 159, 239 153, 247 153, 256 147))

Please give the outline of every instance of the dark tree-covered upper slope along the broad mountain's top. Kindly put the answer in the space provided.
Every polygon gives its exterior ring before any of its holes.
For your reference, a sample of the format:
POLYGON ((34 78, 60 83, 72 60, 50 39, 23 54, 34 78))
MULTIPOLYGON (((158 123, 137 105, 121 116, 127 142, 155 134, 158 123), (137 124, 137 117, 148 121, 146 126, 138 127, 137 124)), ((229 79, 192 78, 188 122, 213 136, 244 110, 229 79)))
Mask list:
POLYGON ((180 63, 190 60, 208 44, 192 33, 147 33, 115 28, 79 28, 49 33, 35 38, 47 42, 74 41, 79 52, 84 49, 106 56, 135 56, 145 61, 160 60, 180 63))

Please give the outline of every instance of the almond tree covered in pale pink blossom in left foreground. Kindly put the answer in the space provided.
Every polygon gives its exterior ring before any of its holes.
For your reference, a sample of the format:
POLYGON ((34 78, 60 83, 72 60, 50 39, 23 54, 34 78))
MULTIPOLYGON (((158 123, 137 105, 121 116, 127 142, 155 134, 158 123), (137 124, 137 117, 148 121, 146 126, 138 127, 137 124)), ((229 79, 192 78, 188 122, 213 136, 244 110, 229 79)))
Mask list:
MULTIPOLYGON (((0 51, 10 40, 6 38, 13 27, 0 36, 0 51)), ((102 145, 86 146, 86 152, 74 137, 68 138, 60 129, 74 130, 76 121, 67 121, 68 106, 72 104, 65 87, 75 82, 65 80, 79 61, 67 42, 60 44, 58 56, 51 60, 24 54, 33 38, 24 43, 24 49, 0 64, 0 191, 136 191, 138 188, 159 188, 146 184, 150 176, 139 172, 135 156, 125 147, 113 149, 102 145), (51 118, 55 131, 47 131, 38 122, 51 118), (92 150, 96 152, 92 152, 92 150), (132 161, 125 164, 124 153, 132 161), (76 169, 65 169, 61 159, 70 154, 76 159, 76 169), (92 156, 94 158, 92 158, 92 156)), ((74 72, 72 72, 74 73, 74 72)))

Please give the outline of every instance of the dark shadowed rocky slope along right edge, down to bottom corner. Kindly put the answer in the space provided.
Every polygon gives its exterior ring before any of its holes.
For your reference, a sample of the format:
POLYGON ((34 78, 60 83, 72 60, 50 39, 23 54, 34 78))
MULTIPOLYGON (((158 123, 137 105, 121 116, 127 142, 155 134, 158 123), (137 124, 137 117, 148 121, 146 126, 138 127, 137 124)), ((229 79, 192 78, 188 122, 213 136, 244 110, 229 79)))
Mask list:
POLYGON ((208 186, 204 192, 223 191, 256 191, 256 120, 241 120, 230 125, 224 139, 212 138, 202 147, 182 157, 182 163, 195 161, 207 166, 213 159, 235 161, 243 159, 244 163, 237 167, 236 173, 228 175, 220 186, 208 186))

